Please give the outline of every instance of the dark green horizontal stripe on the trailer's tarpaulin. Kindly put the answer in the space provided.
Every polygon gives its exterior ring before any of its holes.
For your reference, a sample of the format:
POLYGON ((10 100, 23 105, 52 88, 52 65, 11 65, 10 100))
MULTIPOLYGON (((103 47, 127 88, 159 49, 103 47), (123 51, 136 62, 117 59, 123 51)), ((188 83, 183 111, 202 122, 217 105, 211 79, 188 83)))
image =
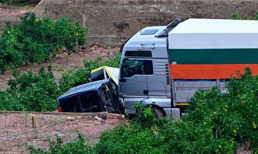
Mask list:
POLYGON ((168 49, 169 63, 256 64, 258 49, 168 49))

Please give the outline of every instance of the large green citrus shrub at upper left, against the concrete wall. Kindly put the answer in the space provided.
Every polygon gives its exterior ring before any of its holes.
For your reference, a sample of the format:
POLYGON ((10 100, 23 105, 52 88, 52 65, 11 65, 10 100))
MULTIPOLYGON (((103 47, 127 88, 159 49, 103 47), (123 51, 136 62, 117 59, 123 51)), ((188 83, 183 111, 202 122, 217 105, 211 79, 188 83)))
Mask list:
POLYGON ((63 47, 69 53, 76 45, 83 47, 87 29, 80 26, 80 22, 72 24, 72 18, 61 17, 57 20, 36 18, 32 12, 21 17, 21 23, 11 26, 6 22, 4 32, 0 38, 0 69, 20 67, 27 63, 41 63, 50 60, 50 56, 57 56, 63 47))

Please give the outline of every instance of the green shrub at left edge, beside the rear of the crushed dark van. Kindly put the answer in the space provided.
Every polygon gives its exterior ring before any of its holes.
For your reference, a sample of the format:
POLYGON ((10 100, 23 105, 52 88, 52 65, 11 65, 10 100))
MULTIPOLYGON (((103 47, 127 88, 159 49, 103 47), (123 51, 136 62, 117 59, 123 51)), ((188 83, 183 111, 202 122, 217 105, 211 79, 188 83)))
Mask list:
POLYGON ((15 79, 8 80, 6 91, 0 91, 0 110, 5 111, 53 111, 57 109, 56 98, 60 95, 51 66, 45 72, 28 71, 21 75, 13 72, 15 79))

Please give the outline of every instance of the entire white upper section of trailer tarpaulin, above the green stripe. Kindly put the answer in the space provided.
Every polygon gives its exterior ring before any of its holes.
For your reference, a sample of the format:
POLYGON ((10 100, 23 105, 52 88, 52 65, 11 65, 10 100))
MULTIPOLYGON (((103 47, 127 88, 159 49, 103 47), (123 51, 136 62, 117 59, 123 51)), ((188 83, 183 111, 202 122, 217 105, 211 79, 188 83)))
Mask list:
POLYGON ((169 49, 258 48, 258 21, 188 19, 168 34, 169 49))

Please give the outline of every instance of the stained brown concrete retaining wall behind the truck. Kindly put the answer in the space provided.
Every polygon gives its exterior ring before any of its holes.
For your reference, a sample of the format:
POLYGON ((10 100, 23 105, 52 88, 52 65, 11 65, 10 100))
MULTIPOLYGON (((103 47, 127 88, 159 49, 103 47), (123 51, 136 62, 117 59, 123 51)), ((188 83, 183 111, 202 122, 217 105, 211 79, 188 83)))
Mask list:
POLYGON ((37 16, 71 16, 88 28, 87 45, 120 45, 146 26, 167 25, 175 18, 227 19, 239 12, 244 18, 254 16, 258 1, 49 1, 42 0, 33 12, 37 16))

